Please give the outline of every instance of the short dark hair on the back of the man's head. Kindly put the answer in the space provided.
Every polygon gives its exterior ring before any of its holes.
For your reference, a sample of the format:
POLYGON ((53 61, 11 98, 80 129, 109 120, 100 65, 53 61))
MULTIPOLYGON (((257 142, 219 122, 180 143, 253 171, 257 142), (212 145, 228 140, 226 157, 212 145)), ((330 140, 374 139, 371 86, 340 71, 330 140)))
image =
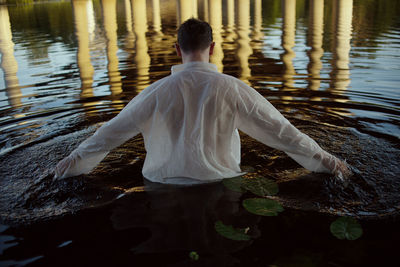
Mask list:
POLYGON ((178 44, 182 51, 206 49, 213 41, 210 24, 198 19, 188 19, 179 26, 178 44))

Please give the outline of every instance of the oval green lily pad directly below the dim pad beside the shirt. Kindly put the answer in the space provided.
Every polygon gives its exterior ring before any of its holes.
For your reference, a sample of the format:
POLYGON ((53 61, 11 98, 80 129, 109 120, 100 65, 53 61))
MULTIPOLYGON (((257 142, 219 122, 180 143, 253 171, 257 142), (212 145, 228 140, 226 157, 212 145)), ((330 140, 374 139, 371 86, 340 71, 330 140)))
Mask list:
POLYGON ((272 199, 248 198, 243 200, 243 207, 251 213, 262 216, 277 216, 283 211, 282 205, 272 199))

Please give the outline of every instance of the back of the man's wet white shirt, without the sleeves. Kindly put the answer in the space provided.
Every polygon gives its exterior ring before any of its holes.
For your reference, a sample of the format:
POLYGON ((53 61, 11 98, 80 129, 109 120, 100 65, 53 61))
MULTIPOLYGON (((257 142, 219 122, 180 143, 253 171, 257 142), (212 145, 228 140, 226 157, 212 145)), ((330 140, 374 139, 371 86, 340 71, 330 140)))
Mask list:
POLYGON ((232 77, 202 62, 174 66, 172 72, 143 102, 146 109, 154 107, 139 126, 147 151, 144 176, 165 182, 176 176, 208 181, 239 175, 232 77))

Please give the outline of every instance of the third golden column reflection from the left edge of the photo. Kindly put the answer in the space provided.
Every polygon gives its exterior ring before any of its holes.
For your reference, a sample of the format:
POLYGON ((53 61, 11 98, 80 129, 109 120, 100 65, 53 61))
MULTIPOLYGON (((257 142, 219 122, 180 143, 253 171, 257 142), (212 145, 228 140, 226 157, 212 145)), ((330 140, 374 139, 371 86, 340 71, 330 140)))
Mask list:
POLYGON ((102 0, 103 22, 107 38, 107 69, 111 94, 122 92, 121 75, 118 70, 117 9, 116 0, 102 0))

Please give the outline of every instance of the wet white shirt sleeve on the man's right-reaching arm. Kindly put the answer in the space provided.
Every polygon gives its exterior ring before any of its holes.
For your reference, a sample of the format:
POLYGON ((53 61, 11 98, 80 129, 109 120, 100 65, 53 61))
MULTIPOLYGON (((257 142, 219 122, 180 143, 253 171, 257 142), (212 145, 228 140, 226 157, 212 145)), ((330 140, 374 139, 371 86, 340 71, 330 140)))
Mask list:
POLYGON ((268 100, 244 83, 238 85, 237 128, 284 151, 310 171, 334 173, 337 158, 294 127, 268 100))

